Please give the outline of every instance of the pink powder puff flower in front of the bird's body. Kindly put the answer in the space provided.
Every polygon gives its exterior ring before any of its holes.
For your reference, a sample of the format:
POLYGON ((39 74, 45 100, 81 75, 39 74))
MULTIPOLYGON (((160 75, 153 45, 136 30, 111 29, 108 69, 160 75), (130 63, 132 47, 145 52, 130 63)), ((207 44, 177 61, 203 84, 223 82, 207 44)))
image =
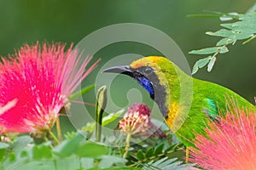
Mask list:
POLYGON ((206 169, 256 169, 256 112, 235 107, 198 135, 189 161, 206 169))

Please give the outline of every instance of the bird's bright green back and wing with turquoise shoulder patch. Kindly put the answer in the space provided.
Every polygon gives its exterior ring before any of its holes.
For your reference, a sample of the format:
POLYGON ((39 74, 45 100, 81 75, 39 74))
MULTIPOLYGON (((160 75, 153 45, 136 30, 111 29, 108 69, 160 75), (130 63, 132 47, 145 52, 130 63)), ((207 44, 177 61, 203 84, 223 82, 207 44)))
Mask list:
POLYGON ((224 116, 233 105, 240 109, 254 109, 254 105, 228 88, 212 82, 193 80, 194 92, 192 106, 187 120, 177 131, 177 136, 188 146, 194 146, 192 139, 197 133, 205 134, 204 128, 208 121, 217 121, 224 116))

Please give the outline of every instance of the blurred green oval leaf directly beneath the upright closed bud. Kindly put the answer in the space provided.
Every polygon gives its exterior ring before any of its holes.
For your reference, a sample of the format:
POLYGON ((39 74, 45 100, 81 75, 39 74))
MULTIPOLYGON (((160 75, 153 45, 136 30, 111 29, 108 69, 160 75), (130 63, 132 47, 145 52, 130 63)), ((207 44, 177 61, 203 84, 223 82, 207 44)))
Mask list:
POLYGON ((104 145, 96 144, 92 142, 86 142, 84 144, 80 144, 79 148, 76 152, 77 156, 80 157, 99 157, 108 154, 108 148, 104 145))

